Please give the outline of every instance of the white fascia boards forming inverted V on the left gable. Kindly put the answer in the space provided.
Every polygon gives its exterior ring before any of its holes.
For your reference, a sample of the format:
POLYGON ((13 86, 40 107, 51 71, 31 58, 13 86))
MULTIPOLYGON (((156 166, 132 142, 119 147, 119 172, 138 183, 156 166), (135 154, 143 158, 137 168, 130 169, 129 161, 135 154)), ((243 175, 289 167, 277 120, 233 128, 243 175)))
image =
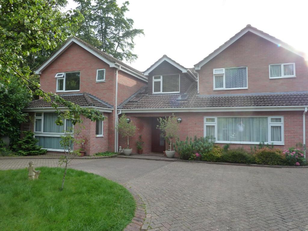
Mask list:
POLYGON ((72 43, 76 43, 78 44, 80 47, 84 48, 85 50, 89 51, 91 54, 95 55, 97 58, 103 60, 105 63, 109 64, 110 67, 115 67, 115 63, 111 62, 110 60, 106 59, 105 57, 103 57, 102 55, 100 55, 99 53, 97 53, 96 51, 93 51, 91 48, 87 47, 86 45, 84 45, 83 43, 79 42, 77 39, 75 38, 71 38, 67 41, 67 43, 61 47, 59 49, 59 51, 57 51, 53 56, 51 56, 45 63, 43 63, 43 65, 41 67, 39 67, 39 69, 37 69, 35 71, 35 74, 41 74, 41 72, 51 63, 53 62, 56 58, 59 57, 59 55, 61 55, 68 47, 71 46, 72 43))

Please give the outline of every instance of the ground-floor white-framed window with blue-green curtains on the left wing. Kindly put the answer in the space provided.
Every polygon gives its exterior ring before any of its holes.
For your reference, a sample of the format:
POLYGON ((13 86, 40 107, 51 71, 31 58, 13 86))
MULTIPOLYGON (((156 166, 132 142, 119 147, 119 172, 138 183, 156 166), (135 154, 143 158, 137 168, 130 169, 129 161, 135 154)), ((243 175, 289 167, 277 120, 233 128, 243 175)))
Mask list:
POLYGON ((50 151, 64 151, 60 140, 64 131, 73 129, 71 120, 64 119, 63 125, 57 125, 55 121, 58 113, 55 112, 35 112, 34 116, 34 137, 39 140, 38 144, 50 151))

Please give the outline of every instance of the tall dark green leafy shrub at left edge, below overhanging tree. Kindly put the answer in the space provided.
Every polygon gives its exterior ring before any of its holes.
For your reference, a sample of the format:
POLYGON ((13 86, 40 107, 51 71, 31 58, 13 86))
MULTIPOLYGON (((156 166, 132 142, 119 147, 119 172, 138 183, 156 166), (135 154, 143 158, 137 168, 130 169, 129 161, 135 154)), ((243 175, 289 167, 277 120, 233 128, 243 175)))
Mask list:
POLYGON ((6 86, 0 81, 0 136, 9 136, 14 142, 20 134, 19 124, 26 121, 28 114, 22 109, 30 102, 31 95, 17 78, 11 80, 6 86))

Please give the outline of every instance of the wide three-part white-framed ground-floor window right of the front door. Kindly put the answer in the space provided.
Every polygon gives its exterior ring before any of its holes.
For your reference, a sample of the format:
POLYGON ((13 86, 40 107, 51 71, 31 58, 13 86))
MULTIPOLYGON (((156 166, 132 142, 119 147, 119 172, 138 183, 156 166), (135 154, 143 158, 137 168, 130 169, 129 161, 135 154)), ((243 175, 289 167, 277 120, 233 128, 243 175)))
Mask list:
POLYGON ((283 116, 204 117, 204 137, 224 144, 283 145, 283 116))

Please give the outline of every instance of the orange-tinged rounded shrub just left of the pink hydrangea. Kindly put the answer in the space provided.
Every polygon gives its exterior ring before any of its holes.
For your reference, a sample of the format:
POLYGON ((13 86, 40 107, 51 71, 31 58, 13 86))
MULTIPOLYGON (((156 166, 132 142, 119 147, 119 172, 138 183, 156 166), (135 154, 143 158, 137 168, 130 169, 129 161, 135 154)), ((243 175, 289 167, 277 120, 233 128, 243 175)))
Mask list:
POLYGON ((285 158, 282 150, 275 148, 261 148, 255 153, 257 164, 284 165, 285 158))

